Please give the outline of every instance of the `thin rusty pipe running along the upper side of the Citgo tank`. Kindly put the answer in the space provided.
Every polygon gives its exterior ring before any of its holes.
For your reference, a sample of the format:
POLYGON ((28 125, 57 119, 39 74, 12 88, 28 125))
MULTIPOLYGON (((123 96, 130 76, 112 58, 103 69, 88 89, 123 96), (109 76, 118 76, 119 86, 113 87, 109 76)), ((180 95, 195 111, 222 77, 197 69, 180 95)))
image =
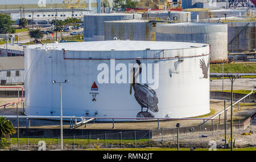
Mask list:
POLYGON ((180 59, 180 58, 193 58, 193 57, 201 57, 201 56, 208 56, 209 54, 201 54, 196 56, 182 56, 182 57, 162 57, 162 58, 65 58, 65 50, 63 50, 63 59, 81 59, 81 60, 110 60, 110 59, 119 59, 119 60, 125 60, 125 59, 180 59))

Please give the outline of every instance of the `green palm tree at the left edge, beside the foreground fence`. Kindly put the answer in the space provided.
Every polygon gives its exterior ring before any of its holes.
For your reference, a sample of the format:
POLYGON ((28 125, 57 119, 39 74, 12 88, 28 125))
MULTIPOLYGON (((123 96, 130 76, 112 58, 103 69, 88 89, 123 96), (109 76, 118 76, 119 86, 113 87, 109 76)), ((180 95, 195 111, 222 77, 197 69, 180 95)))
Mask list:
POLYGON ((0 140, 2 138, 10 138, 10 135, 15 134, 16 130, 13 123, 10 122, 6 117, 0 116, 0 140))

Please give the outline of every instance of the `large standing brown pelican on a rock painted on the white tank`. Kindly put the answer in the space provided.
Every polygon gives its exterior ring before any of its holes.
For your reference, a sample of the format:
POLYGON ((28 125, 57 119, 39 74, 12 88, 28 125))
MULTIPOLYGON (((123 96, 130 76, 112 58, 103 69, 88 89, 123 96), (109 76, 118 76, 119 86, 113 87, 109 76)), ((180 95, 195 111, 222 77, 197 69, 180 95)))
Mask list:
POLYGON ((139 72, 135 75, 135 67, 133 68, 133 83, 130 84, 130 95, 133 89, 134 97, 138 104, 141 105, 141 112, 137 114, 137 117, 154 118, 155 116, 148 112, 148 109, 152 112, 158 112, 158 97, 156 96, 156 92, 151 89, 148 84, 142 85, 135 83, 135 79, 137 79, 138 75, 142 72, 141 61, 137 60, 137 63, 139 65, 139 72), (143 112, 143 108, 147 108, 146 112, 143 112))

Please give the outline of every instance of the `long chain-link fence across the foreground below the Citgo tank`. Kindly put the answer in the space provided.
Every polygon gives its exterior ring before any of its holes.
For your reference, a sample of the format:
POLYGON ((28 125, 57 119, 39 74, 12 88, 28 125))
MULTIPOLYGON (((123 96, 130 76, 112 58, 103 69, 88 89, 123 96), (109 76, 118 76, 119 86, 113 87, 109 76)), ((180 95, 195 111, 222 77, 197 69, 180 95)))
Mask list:
MULTIPOLYGON (((234 121, 233 134, 241 134, 249 125, 255 125, 255 114, 246 121, 234 121)), ((224 124, 186 126, 179 128, 179 139, 195 139, 224 135, 224 124)), ((226 135, 230 135, 230 124, 226 124, 226 135)), ((20 137, 19 150, 38 150, 40 141, 46 144, 46 150, 60 150, 60 137, 20 137)), ((89 133, 86 135, 65 136, 63 140, 64 150, 84 150, 99 148, 145 148, 162 147, 164 142, 177 140, 176 125, 172 128, 160 128, 156 130, 130 130, 115 133, 89 133)), ((17 150, 17 138, 9 140, 10 146, 6 149, 17 150)))

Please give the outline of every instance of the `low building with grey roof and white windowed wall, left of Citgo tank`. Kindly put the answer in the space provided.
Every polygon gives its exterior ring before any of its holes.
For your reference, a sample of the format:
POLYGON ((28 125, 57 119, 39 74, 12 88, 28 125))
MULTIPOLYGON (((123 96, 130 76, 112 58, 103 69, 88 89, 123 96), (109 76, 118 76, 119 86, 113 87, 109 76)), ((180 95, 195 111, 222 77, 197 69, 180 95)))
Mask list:
POLYGON ((1 83, 24 83, 24 57, 0 57, 1 83))

